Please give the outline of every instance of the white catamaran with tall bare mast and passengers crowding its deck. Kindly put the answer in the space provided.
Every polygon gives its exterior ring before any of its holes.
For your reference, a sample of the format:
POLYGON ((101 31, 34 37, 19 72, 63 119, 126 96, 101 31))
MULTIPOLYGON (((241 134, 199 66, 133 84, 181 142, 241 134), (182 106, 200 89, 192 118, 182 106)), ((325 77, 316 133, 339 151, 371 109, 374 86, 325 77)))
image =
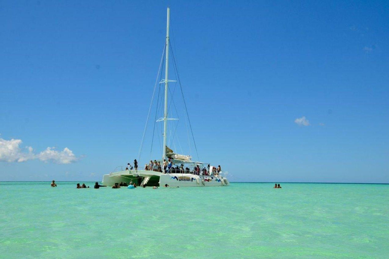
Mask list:
MULTIPOLYGON (((169 187, 209 187, 209 186, 228 186, 226 171, 220 167, 211 166, 209 163, 192 161, 191 156, 175 153, 167 146, 168 136, 168 91, 169 82, 169 23, 170 8, 167 9, 166 26, 166 50, 165 51, 165 79, 160 83, 165 84, 165 105, 164 117, 157 121, 164 122, 163 132, 163 155, 162 159, 152 160, 146 164, 143 169, 134 167, 119 166, 114 171, 103 176, 103 184, 112 186, 115 183, 136 183, 138 186, 169 186, 169 187), (124 169, 126 168, 126 169, 124 169)), ((162 64, 162 60, 161 60, 162 64)), ((152 101, 151 101, 152 102, 152 101)), ((150 105, 151 108, 151 105, 150 105)), ((186 104, 185 104, 186 108, 186 104)), ((190 123, 190 121, 189 121, 190 123)), ((147 122, 146 122, 147 126, 147 122)), ((144 133, 143 133, 144 137, 144 133)), ((194 138, 193 138, 194 139, 194 138)), ((143 139, 142 144, 143 145, 143 139)), ((195 144, 196 145, 196 144, 195 144)))

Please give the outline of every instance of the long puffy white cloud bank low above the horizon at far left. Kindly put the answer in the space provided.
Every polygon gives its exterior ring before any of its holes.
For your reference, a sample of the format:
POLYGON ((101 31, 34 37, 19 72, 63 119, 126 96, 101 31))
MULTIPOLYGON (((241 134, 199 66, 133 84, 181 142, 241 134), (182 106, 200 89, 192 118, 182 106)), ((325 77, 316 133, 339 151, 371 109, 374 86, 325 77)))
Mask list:
POLYGON ((44 162, 52 161, 60 164, 68 164, 77 161, 73 151, 64 148, 63 151, 57 151, 48 147, 39 154, 33 153, 32 147, 25 147, 26 151, 20 148, 22 140, 5 140, 0 138, 0 162, 24 162, 32 159, 39 159, 44 162))

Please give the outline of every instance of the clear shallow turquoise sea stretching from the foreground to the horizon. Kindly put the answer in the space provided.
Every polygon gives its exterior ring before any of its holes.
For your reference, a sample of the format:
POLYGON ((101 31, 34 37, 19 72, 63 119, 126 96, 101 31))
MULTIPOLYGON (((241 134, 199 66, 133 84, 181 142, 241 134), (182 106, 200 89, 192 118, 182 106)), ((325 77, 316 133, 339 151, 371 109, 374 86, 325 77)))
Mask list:
POLYGON ((1 182, 0 257, 389 258, 389 185, 86 184, 1 182))

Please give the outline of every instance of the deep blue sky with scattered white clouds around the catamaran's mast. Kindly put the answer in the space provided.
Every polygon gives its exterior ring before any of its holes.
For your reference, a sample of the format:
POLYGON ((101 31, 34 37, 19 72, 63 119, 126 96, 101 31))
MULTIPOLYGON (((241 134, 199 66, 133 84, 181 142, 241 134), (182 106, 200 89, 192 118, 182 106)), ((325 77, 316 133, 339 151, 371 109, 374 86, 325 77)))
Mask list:
POLYGON ((389 183, 387 1, 0 2, 0 181, 101 181, 138 157, 167 6, 200 160, 389 183))

